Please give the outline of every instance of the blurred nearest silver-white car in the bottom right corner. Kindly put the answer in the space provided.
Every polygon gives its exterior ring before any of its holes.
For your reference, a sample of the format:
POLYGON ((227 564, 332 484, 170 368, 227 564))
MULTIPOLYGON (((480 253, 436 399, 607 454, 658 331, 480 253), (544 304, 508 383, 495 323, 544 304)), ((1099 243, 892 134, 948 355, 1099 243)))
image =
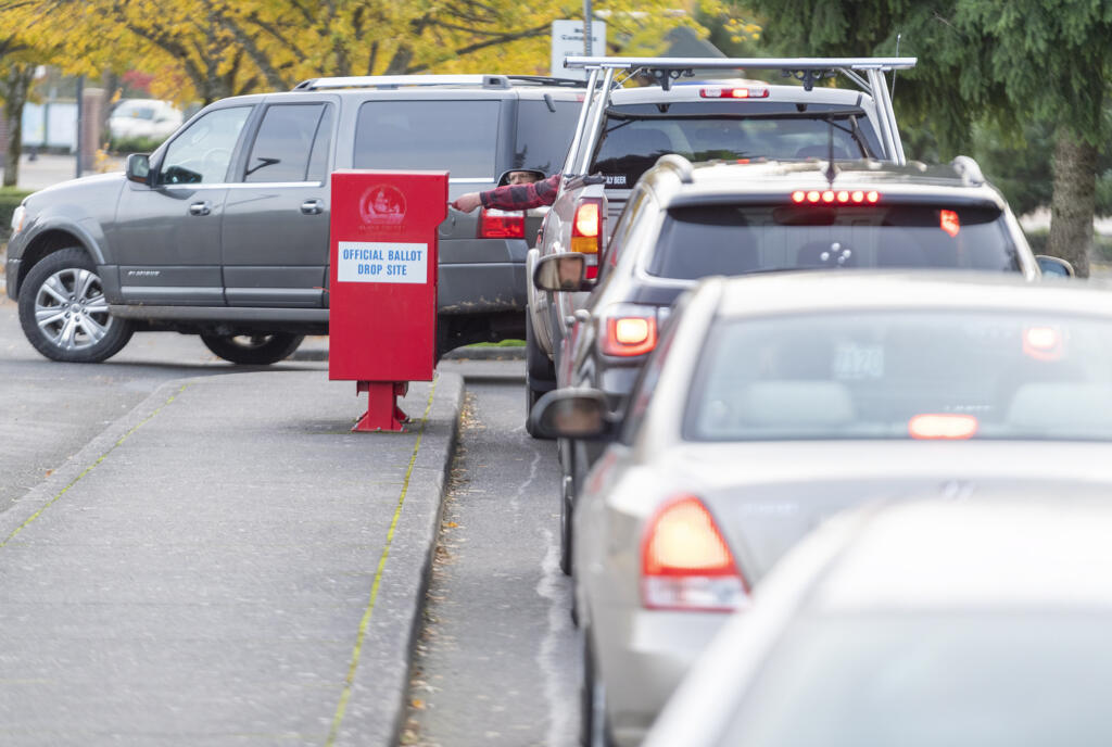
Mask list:
POLYGON ((1112 744, 1112 501, 858 509, 797 545, 644 747, 1112 744))

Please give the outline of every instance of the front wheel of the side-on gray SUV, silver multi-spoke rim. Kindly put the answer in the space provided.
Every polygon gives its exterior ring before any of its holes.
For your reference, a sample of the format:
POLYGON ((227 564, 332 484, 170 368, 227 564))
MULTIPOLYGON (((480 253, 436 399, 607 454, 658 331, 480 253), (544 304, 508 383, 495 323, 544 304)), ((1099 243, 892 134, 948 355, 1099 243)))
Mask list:
POLYGON ((108 311, 97 265, 78 247, 47 255, 19 289, 19 323, 51 360, 99 363, 128 343, 135 325, 108 311))

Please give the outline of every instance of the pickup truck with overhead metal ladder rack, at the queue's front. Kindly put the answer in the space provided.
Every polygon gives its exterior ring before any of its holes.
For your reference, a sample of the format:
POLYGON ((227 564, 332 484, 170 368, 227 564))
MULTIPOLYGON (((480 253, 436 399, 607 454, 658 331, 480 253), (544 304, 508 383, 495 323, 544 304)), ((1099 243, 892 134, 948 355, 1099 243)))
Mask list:
MULTIPOLYGON (((567 67, 590 71, 587 100, 564 160, 564 185, 545 218, 529 272, 540 258, 564 251, 587 256, 594 272, 613 223, 634 183, 663 155, 693 161, 758 158, 868 158, 903 163, 900 132, 885 71, 906 69, 914 58, 861 59, 666 59, 568 58, 567 67), (696 80, 695 70, 739 74, 773 70, 802 86, 747 79, 696 80), (651 76, 657 86, 622 89, 626 79, 651 76), (818 84, 844 73, 864 90, 818 84), (589 175, 589 176, 588 176, 589 175)), ((556 386, 567 325, 584 293, 528 289, 527 402, 556 386)), ((526 417, 527 428, 532 421, 526 417)))

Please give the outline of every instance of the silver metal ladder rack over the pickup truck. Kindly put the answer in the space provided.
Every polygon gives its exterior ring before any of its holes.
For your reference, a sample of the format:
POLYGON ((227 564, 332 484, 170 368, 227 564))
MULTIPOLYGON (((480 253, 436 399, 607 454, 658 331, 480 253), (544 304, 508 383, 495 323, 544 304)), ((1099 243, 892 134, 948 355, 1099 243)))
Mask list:
MULTIPOLYGON (((616 70, 645 71, 652 74, 668 90, 673 80, 681 77, 694 77, 695 70, 782 70, 803 81, 804 90, 812 90, 815 82, 838 72, 852 80, 864 90, 876 104, 877 129, 885 156, 892 161, 906 162, 900 130, 896 129, 895 112, 892 109, 892 97, 888 93, 884 73, 890 70, 905 70, 915 67, 914 57, 567 57, 565 68, 584 69, 588 71, 587 90, 589 94, 584 101, 584 112, 597 99, 600 106, 593 107, 593 119, 589 132, 597 133, 603 111, 609 104, 610 90, 615 87, 616 70)), ((595 146, 597 135, 588 137, 583 151, 583 160, 576 165, 580 171, 586 170, 589 153, 595 146)), ((579 148, 578 138, 572 143, 573 149, 579 148)), ((579 151, 576 151, 579 152, 579 151)))

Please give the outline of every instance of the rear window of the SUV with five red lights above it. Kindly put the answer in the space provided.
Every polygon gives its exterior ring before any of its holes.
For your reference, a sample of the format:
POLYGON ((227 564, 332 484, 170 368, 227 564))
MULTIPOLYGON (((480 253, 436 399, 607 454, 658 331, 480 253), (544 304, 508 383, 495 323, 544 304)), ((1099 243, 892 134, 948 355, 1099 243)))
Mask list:
POLYGON ((695 280, 863 267, 1019 271, 992 207, 718 205, 669 209, 648 272, 695 280))

